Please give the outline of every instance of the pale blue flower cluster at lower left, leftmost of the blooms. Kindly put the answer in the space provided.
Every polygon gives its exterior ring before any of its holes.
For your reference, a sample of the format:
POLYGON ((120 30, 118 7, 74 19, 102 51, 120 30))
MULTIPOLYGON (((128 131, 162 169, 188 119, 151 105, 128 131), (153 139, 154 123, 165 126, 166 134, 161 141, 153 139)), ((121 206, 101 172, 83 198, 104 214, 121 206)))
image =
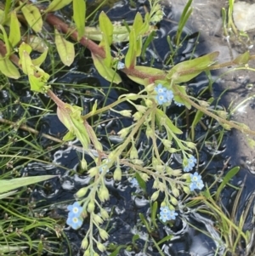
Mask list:
POLYGON ((70 225, 74 230, 79 229, 82 226, 82 207, 78 202, 74 202, 67 207, 69 210, 66 224, 70 225))

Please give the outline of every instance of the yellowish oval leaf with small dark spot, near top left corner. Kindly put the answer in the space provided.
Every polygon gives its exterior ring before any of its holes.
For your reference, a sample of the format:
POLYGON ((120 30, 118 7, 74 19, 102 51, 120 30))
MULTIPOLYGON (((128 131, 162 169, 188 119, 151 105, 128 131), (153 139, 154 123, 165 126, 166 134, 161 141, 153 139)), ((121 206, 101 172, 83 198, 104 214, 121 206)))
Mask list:
MULTIPOLYGON (((20 3, 20 5, 21 4, 22 3, 20 3)), ((33 31, 42 31, 42 15, 36 6, 32 4, 26 4, 25 6, 22 7, 21 11, 22 14, 25 16, 27 23, 29 24, 29 26, 31 26, 31 29, 33 31)))

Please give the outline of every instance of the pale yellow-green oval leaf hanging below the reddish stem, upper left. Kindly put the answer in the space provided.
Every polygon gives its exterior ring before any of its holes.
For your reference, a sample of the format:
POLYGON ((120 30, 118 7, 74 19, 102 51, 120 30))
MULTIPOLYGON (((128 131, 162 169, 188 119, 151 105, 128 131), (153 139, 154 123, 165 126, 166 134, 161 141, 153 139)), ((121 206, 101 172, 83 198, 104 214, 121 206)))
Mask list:
POLYGON ((55 44, 62 62, 65 65, 71 65, 75 57, 74 44, 65 40, 65 38, 56 29, 55 44))

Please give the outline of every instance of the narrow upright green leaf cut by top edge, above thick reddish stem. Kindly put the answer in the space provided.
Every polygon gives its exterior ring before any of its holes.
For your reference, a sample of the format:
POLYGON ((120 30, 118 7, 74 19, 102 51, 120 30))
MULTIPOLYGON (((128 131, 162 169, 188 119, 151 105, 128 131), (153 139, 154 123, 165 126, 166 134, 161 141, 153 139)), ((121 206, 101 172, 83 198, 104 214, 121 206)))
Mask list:
POLYGON ((73 20, 77 26, 78 40, 80 40, 85 33, 85 16, 86 3, 84 0, 73 0, 73 20))

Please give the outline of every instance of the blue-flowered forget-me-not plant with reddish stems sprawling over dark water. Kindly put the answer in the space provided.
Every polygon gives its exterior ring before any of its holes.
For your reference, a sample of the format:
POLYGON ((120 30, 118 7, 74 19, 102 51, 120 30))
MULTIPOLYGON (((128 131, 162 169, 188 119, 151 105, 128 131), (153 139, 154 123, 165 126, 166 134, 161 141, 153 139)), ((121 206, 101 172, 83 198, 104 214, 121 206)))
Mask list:
MULTIPOLYGON (((99 251, 105 251, 106 248, 102 241, 107 240, 109 234, 104 221, 109 219, 110 213, 105 210, 103 203, 110 198, 105 185, 105 176, 110 171, 116 181, 122 180, 124 175, 132 176, 130 183, 133 187, 140 186, 144 191, 146 182, 152 180, 155 191, 149 196, 151 203, 154 202, 151 211, 153 216, 151 222, 154 226, 157 219, 171 226, 171 222, 178 216, 176 211, 179 208, 179 196, 190 195, 205 187, 200 174, 188 173, 197 167, 199 154, 192 136, 185 136, 184 139, 180 137, 183 134, 182 129, 178 127, 178 122, 167 114, 167 110, 171 107, 177 105, 187 111, 194 110, 196 117, 199 116, 196 123, 203 115, 207 115, 225 129, 237 128, 245 134, 255 134, 243 124, 229 121, 226 111, 212 110, 209 100, 198 100, 190 96, 184 85, 184 82, 190 81, 203 71, 209 72, 229 65, 243 65, 253 60, 254 56, 245 53, 227 63, 215 64, 215 58, 218 56, 218 52, 215 52, 178 63, 166 71, 137 65, 137 58, 143 53, 143 38, 150 38, 151 33, 156 30, 155 23, 161 21, 164 15, 160 1, 150 0, 149 3, 150 11, 144 15, 144 18, 142 14, 137 13, 132 26, 127 26, 125 23, 121 26, 113 26, 107 14, 101 12, 99 29, 85 26, 88 17, 86 17, 86 2, 83 0, 54 0, 47 8, 40 6, 39 3, 26 1, 21 1, 17 5, 8 1, 4 5, 0 26, 1 72, 10 79, 20 79, 20 71, 22 71, 29 81, 32 92, 48 95, 54 101, 57 106, 57 116, 68 130, 62 139, 55 138, 55 140, 66 143, 78 139, 82 144, 82 171, 90 176, 91 182, 77 191, 75 195, 77 202, 67 207, 69 213, 66 223, 77 230, 85 219, 88 220, 89 228, 82 241, 84 255, 98 255, 99 251), (74 23, 67 24, 54 12, 70 3, 72 3, 74 23), (111 85, 122 82, 119 73, 122 72, 139 84, 139 93, 122 94, 118 100, 101 108, 98 108, 95 101, 92 110, 83 115, 82 106, 65 103, 54 93, 51 74, 42 69, 49 54, 48 48, 44 48, 42 54, 34 58, 32 51, 37 48, 33 48, 32 43, 29 42, 20 43, 21 20, 26 20, 28 28, 35 34, 42 31, 43 20, 54 27, 53 48, 58 52, 59 59, 64 65, 70 66, 75 60, 76 48, 71 40, 76 41, 90 50, 95 68, 105 80, 111 82, 111 85), (124 41, 129 43, 127 53, 116 52, 112 56, 111 45, 124 41), (134 111, 119 111, 116 106, 123 102, 133 105, 134 111), (122 142, 113 145, 110 150, 104 149, 93 127, 94 123, 89 123, 89 117, 96 117, 106 111, 114 111, 119 117, 132 118, 130 126, 117 132, 122 142), (143 158, 137 150, 136 140, 142 130, 152 145, 150 160, 143 158), (158 145, 161 145, 161 150, 158 145), (181 165, 178 168, 170 166, 169 162, 163 160, 164 153, 167 153, 168 158, 173 154, 178 155, 181 165), (85 155, 91 156, 92 162, 87 162, 85 155), (128 168, 130 174, 122 172, 123 167, 128 168), (163 196, 159 199, 160 193, 163 196), (160 203, 160 208, 157 207, 157 203, 160 203), (99 239, 94 236, 94 230, 98 231, 99 239)), ((191 1, 188 2, 178 26, 177 45, 181 43, 181 32, 191 13, 190 4, 191 1)), ((52 136, 48 138, 53 139, 52 136)), ((141 219, 150 230, 150 224, 142 216, 141 219)), ((156 243, 157 248, 159 244, 156 243)))

